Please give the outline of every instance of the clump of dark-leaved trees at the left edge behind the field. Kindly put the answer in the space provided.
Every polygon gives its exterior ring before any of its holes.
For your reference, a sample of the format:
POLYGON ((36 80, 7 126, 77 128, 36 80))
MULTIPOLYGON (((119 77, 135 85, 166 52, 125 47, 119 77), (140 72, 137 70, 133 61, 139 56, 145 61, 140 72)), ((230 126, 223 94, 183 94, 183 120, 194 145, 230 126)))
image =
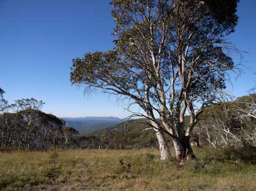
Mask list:
POLYGON ((65 122, 40 111, 43 104, 34 98, 4 104, 0 114, 0 146, 25 148, 33 142, 42 148, 59 146, 65 122))

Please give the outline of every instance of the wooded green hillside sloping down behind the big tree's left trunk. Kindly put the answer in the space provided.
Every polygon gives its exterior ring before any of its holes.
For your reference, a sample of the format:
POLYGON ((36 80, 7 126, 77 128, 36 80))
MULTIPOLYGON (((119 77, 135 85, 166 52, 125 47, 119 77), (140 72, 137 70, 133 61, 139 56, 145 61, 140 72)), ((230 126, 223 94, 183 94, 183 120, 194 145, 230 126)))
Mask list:
MULTIPOLYGON (((154 131, 143 123, 145 119, 135 119, 118 123, 114 127, 105 128, 86 136, 91 137, 91 146, 105 149, 133 149, 157 147, 154 131)), ((168 139, 170 141, 170 139, 168 139)))

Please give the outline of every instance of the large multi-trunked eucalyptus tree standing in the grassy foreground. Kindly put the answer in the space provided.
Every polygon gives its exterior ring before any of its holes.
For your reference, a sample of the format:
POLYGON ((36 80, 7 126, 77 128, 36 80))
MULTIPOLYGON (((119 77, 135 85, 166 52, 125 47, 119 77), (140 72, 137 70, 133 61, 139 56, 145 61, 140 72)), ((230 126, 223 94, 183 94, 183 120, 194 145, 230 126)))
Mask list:
POLYGON ((237 3, 113 0, 115 48, 74 59, 70 80, 138 104, 143 112, 132 116, 148 119, 163 160, 169 155, 163 133, 173 139, 180 162, 195 157, 189 138, 197 118, 220 98, 234 70, 229 53, 236 49, 225 39, 237 25, 237 3))

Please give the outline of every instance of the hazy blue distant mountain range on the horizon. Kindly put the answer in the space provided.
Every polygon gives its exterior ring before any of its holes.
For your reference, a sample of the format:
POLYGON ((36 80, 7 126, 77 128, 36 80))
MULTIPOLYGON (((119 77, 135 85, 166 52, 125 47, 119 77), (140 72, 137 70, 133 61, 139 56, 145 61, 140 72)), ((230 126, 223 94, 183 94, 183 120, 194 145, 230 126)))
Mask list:
POLYGON ((118 117, 63 117, 68 127, 73 127, 80 133, 91 133, 109 128, 123 120, 118 117))

